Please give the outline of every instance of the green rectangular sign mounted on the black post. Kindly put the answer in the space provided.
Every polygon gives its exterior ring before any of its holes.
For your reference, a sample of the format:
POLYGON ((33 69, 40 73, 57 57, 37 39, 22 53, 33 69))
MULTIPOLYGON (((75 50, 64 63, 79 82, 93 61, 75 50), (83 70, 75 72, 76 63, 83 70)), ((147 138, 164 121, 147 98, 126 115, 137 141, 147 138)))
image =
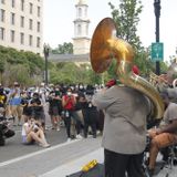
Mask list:
POLYGON ((152 43, 152 61, 163 61, 164 60, 164 43, 156 42, 152 43))

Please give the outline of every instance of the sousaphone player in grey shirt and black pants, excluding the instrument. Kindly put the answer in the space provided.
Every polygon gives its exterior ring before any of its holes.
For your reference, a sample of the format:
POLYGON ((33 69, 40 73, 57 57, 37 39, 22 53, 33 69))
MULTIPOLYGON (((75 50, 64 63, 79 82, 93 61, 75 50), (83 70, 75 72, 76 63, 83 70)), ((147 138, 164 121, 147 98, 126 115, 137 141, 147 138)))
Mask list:
POLYGON ((104 164, 106 177, 143 177, 146 147, 148 98, 128 86, 114 85, 93 96, 93 104, 104 110, 104 164))

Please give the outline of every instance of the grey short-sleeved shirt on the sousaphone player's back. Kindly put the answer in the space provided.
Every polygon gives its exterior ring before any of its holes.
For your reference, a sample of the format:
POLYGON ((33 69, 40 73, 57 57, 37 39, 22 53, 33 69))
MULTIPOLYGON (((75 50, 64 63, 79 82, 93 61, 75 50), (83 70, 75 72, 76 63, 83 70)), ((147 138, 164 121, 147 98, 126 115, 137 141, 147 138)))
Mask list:
POLYGON ((103 147, 119 154, 143 153, 150 112, 147 97, 134 88, 115 85, 96 93, 93 103, 105 112, 103 147))

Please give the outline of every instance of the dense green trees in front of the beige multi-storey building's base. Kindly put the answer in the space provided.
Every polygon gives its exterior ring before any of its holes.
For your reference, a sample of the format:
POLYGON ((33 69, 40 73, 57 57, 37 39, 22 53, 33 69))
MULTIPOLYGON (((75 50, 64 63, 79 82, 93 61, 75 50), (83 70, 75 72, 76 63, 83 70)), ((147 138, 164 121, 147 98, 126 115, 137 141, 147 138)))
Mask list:
POLYGON ((37 84, 42 81, 43 69, 44 61, 39 54, 0 46, 0 82, 4 85, 14 81, 25 85, 37 84))

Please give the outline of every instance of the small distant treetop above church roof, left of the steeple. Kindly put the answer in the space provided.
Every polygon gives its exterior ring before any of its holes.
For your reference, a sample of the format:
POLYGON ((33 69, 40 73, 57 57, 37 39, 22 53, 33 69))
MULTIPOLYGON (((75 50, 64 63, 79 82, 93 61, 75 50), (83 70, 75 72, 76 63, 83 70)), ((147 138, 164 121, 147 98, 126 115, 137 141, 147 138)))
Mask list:
POLYGON ((73 44, 71 42, 64 42, 63 44, 59 44, 56 49, 52 50, 54 54, 72 54, 73 53, 73 44))

